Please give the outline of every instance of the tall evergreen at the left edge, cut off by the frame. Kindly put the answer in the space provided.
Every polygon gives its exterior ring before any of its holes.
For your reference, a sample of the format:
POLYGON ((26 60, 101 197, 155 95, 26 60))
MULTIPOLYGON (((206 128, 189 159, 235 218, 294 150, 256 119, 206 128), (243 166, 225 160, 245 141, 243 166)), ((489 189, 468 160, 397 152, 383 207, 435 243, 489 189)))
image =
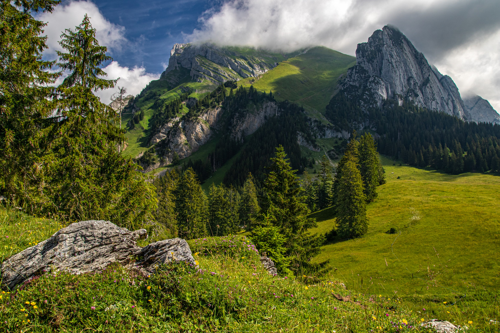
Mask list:
POLYGON ((19 205, 46 201, 43 186, 52 157, 46 140, 54 120, 54 88, 60 72, 44 61, 44 22, 32 13, 52 12, 58 0, 0 1, 0 194, 19 205))

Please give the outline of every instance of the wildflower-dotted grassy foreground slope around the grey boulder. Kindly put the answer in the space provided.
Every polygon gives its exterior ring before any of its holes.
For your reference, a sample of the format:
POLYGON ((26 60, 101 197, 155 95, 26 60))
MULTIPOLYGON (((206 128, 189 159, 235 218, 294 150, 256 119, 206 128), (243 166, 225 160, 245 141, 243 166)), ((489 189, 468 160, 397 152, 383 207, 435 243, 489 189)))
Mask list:
MULTIPOLYGON (((10 247, 17 252, 49 237, 56 225, 1 209, 2 259, 10 247)), ((180 263, 150 276, 119 265, 78 276, 47 272, 2 292, 0 331, 424 332, 418 324, 429 318, 396 298, 353 293, 338 282, 271 276, 244 236, 189 245, 199 267, 180 263)))

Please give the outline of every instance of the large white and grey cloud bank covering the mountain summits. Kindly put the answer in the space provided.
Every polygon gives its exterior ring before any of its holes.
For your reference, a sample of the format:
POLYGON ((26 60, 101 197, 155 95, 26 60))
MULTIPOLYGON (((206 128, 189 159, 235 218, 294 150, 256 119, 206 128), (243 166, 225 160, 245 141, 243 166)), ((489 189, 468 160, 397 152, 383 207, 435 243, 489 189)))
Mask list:
POLYGON ((500 111, 498 0, 229 0, 186 40, 292 51, 323 45, 355 54, 394 24, 429 62, 500 111))

